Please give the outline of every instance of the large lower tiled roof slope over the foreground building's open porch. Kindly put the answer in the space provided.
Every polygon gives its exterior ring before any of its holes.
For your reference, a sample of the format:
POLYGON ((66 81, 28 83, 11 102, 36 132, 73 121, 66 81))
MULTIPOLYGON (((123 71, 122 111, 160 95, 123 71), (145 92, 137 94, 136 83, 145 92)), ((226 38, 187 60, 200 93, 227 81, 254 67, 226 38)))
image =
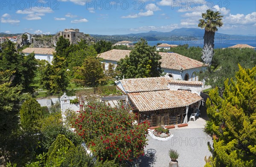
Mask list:
POLYGON ((140 112, 185 107, 202 99, 187 90, 134 92, 128 93, 128 96, 140 112))

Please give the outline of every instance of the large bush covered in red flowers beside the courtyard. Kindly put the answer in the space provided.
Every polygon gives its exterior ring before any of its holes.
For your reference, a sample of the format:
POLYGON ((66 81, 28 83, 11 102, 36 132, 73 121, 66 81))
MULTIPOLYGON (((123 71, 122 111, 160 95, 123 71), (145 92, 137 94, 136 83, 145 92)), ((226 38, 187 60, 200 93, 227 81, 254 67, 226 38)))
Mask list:
POLYGON ((88 104, 71 124, 100 160, 132 161, 144 154, 149 122, 134 125, 136 116, 128 111, 124 106, 88 104))

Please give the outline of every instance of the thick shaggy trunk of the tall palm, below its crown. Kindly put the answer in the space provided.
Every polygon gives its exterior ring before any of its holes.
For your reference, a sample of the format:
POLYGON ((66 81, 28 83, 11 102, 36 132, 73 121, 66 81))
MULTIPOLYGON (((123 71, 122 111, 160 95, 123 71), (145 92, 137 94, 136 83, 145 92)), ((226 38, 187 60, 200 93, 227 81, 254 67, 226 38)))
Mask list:
POLYGON ((202 60, 209 66, 212 64, 212 56, 214 55, 214 35, 215 32, 204 31, 204 48, 202 60))

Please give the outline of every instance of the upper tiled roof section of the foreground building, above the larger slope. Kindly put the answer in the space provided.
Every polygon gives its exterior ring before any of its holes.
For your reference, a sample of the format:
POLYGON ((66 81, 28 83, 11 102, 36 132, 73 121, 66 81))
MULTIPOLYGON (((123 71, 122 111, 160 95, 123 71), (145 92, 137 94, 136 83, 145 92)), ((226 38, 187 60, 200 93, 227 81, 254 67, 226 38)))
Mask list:
POLYGON ((126 92, 145 92, 156 90, 168 90, 168 83, 172 78, 154 77, 154 78, 131 78, 120 80, 126 92))

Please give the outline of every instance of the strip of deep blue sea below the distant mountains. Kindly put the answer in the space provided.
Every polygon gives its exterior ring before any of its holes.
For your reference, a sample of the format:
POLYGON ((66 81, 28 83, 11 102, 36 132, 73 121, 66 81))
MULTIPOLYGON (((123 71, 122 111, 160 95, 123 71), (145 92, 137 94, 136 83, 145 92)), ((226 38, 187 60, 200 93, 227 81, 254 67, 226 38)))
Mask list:
MULTIPOLYGON (((157 43, 168 43, 173 45, 184 45, 189 44, 191 46, 199 46, 203 48, 204 40, 156 40, 156 41, 148 41, 148 45, 154 46, 157 43)), ((214 40, 214 48, 227 48, 229 46, 234 46, 236 44, 247 44, 253 47, 256 47, 256 40, 226 40, 226 39, 215 39, 214 40)))

